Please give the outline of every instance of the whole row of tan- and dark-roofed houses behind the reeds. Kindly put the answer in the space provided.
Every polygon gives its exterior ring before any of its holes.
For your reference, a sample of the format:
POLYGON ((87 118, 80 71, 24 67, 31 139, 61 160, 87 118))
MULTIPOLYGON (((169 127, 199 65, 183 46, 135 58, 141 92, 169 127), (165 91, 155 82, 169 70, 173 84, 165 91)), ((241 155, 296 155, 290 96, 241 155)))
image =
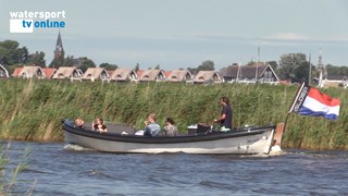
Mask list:
MULTIPOLYGON (((277 84, 278 77, 269 64, 260 66, 229 66, 221 73, 215 71, 199 71, 192 75, 188 70, 134 70, 116 69, 107 71, 103 68, 89 68, 85 73, 75 66, 59 69, 40 68, 35 65, 16 68, 11 75, 22 78, 47 78, 71 81, 102 81, 102 82, 184 82, 184 83, 270 83, 277 84)), ((10 77, 8 71, 0 66, 0 77, 10 77)))

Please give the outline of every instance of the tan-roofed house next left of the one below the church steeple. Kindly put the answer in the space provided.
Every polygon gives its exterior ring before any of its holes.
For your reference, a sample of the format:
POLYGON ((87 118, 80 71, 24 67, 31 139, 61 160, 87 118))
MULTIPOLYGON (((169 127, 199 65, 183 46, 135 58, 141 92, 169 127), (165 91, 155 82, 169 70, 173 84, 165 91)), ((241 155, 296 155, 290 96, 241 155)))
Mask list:
POLYGON ((22 78, 46 78, 46 74, 40 66, 23 66, 16 68, 12 74, 13 77, 22 78))

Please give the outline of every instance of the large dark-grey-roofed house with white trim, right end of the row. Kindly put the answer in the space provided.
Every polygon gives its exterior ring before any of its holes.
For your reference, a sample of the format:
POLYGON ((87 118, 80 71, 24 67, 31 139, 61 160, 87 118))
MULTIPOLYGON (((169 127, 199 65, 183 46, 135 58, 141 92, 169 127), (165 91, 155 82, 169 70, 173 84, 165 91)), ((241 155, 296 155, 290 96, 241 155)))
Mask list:
POLYGON ((278 84, 278 76, 268 63, 260 65, 231 65, 221 73, 225 82, 229 83, 269 83, 278 84))

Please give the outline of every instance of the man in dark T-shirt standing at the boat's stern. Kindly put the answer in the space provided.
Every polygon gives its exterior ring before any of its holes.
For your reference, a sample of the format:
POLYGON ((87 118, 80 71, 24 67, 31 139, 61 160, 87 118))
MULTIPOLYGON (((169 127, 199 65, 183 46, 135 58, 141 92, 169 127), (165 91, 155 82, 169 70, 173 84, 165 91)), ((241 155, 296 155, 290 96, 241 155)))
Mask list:
POLYGON ((217 119, 214 119, 214 122, 220 122, 221 131, 231 131, 232 126, 232 118, 233 111, 229 105, 229 100, 227 97, 220 98, 220 105, 222 106, 221 115, 217 119))

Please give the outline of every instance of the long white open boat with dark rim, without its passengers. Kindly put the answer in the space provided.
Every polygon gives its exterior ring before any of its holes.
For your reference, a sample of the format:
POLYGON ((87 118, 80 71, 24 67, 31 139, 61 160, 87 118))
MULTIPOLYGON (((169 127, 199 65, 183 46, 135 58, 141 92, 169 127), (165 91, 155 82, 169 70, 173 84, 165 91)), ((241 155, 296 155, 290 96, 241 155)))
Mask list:
POLYGON ((272 146, 281 146, 284 124, 277 126, 239 127, 228 132, 204 130, 200 133, 173 137, 147 137, 134 135, 135 130, 123 124, 108 125, 108 133, 80 128, 74 121, 65 120, 63 130, 65 140, 85 148, 119 154, 270 154, 272 146), (128 133, 127 135, 122 134, 128 133))

